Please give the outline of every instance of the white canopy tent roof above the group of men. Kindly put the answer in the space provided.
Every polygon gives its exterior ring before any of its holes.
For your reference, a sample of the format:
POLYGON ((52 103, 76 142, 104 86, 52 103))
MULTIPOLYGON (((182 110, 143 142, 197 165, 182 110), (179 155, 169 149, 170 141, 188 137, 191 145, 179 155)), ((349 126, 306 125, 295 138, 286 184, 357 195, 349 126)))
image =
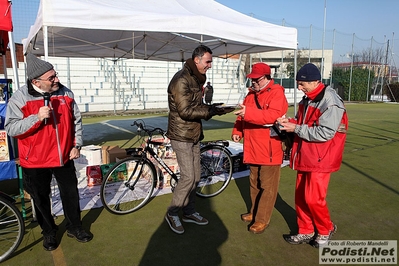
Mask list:
POLYGON ((24 51, 57 57, 183 61, 199 44, 214 56, 297 47, 295 28, 213 0, 41 0, 24 51))

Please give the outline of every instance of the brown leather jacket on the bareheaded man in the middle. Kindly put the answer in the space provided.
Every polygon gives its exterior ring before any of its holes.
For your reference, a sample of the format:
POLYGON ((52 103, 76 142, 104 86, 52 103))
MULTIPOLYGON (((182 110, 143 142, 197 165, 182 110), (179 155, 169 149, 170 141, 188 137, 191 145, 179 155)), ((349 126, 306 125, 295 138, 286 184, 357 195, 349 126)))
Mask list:
POLYGON ((210 107, 202 103, 205 81, 192 59, 173 76, 168 86, 169 139, 197 143, 204 138, 201 119, 211 118, 210 107))

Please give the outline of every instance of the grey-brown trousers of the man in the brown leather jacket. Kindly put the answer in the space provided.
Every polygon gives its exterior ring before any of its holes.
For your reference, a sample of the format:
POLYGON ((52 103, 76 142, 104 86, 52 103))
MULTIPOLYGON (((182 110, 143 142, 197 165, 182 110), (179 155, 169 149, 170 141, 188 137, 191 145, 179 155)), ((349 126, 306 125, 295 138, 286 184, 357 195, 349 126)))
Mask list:
POLYGON ((182 209, 183 214, 190 215, 195 212, 195 189, 201 176, 200 144, 176 140, 171 140, 170 143, 176 153, 180 179, 173 192, 168 213, 178 215, 182 209))

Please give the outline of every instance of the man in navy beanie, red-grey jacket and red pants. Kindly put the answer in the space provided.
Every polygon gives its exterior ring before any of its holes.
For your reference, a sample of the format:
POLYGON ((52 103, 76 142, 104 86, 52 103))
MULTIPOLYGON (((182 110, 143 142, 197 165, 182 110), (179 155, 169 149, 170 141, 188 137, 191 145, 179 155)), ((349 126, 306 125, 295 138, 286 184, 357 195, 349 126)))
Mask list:
POLYGON ((348 117, 342 99, 321 83, 315 65, 304 65, 296 80, 298 89, 305 93, 296 118, 278 119, 282 130, 295 132, 290 166, 297 170, 295 209, 299 232, 284 235, 284 239, 290 244, 310 243, 318 248, 337 230, 331 222, 326 196, 331 173, 338 171, 342 162, 348 117))

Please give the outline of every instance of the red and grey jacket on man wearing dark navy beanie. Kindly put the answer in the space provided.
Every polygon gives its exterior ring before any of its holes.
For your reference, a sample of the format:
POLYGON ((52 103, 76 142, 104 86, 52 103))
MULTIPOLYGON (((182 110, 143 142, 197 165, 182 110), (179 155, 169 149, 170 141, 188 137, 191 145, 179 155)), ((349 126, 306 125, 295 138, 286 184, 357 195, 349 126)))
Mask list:
POLYGON ((345 106, 332 88, 320 86, 314 99, 304 96, 296 119, 290 120, 297 124, 290 160, 294 170, 330 173, 342 163, 348 129, 345 106))

